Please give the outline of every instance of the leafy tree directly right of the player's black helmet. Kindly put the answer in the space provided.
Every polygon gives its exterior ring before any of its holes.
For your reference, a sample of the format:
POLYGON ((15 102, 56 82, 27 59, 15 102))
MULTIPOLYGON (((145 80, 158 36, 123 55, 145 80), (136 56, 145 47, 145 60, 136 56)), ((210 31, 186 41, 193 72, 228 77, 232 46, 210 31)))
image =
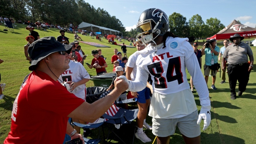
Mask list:
POLYGON ((169 16, 170 31, 179 37, 189 37, 190 27, 186 20, 186 17, 183 17, 183 15, 173 12, 169 16))

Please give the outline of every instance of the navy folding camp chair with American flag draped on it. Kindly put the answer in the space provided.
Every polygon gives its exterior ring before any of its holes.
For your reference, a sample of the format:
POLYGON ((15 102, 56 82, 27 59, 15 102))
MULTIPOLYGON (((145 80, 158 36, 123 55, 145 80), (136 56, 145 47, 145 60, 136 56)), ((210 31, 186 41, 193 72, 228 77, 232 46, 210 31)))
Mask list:
MULTIPOLYGON (((111 91, 112 90, 104 92, 99 99, 106 97, 111 91)), ((128 102, 135 102, 135 99, 127 99, 117 103, 121 104, 121 103, 128 103, 128 102)), ((106 119, 104 123, 113 124, 115 126, 120 124, 131 124, 131 122, 137 118, 137 113, 139 109, 129 110, 129 109, 119 108, 116 106, 117 103, 114 102, 112 106, 109 108, 109 110, 102 116, 103 118, 106 119)), ((135 125, 132 125, 132 126, 134 126, 134 133, 133 133, 133 141, 134 141, 136 126, 135 125)), ((116 137, 118 137, 125 144, 125 142, 111 128, 109 128, 107 142, 110 142, 112 140, 112 139, 109 139, 110 132, 114 133, 114 135, 116 135, 116 137)))

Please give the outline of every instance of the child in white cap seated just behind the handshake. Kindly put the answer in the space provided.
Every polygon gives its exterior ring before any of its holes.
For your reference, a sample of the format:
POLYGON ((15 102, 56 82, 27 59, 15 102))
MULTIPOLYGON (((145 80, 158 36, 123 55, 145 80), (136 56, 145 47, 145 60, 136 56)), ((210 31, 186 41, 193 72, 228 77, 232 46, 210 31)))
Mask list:
MULTIPOLYGON (((112 90, 114 87, 115 87, 115 83, 114 81, 116 80, 117 77, 119 76, 123 76, 123 68, 121 66, 116 66, 116 76, 113 78, 112 80, 112 83, 111 85, 109 86, 109 88, 107 89, 108 90, 112 90)), ((123 101, 123 100, 126 100, 127 97, 126 97, 126 91, 124 91, 117 99, 116 99, 116 102, 119 102, 119 101, 123 101)), ((123 104, 123 108, 124 109, 128 109, 128 104, 125 103, 123 104)))

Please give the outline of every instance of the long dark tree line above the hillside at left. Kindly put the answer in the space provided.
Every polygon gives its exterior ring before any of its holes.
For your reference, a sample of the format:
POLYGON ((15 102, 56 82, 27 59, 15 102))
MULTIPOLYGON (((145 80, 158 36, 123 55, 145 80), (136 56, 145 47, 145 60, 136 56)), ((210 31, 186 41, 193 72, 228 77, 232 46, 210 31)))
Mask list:
POLYGON ((79 25, 84 21, 125 32, 119 19, 84 0, 0 0, 0 4, 0 16, 12 17, 15 21, 44 21, 62 27, 70 22, 79 25))

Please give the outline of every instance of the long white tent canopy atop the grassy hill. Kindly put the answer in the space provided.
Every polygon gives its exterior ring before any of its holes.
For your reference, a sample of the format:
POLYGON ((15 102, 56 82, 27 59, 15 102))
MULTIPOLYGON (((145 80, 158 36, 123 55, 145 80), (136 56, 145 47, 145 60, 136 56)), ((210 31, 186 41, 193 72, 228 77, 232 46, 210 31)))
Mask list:
MULTIPOLYGON (((86 22, 82 22, 81 24, 78 25, 79 29, 82 30, 86 30, 86 31, 94 31, 94 32, 101 32, 101 33, 108 33, 108 34, 112 34, 112 35, 117 35, 119 33, 121 33, 120 31, 116 31, 110 28, 105 28, 102 26, 96 26, 94 24, 89 24, 86 22)), ((122 33, 123 35, 123 33, 122 33)))

